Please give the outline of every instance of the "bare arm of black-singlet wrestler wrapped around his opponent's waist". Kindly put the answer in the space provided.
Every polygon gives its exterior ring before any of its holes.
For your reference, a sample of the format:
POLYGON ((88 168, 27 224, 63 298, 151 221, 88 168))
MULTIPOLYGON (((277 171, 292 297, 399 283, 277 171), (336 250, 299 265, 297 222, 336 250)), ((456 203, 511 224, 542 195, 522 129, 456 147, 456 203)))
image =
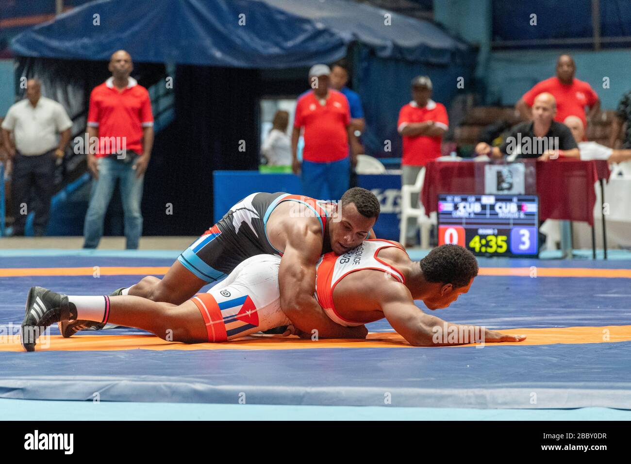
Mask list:
POLYGON ((317 330, 319 338, 366 338, 365 326, 344 327, 334 323, 315 300, 315 265, 320 259, 322 234, 319 229, 309 227, 299 232, 288 235, 280 261, 281 309, 304 333, 312 334, 317 330))

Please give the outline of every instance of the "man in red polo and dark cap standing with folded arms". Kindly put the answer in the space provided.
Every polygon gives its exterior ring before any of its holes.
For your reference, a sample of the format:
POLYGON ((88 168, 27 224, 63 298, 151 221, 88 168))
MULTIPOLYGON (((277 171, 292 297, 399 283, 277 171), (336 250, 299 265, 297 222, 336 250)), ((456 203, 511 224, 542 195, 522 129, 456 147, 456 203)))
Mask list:
MULTIPOLYGON (((434 102, 432 81, 427 76, 412 80, 412 101, 399 112, 398 130, 403 136, 403 159, 401 160, 401 184, 413 185, 416 177, 428 161, 440 157, 442 134, 449 129, 449 119, 444 105, 434 102)), ((411 199, 413 208, 418 208, 418 195, 411 199)), ((407 246, 418 243, 418 223, 408 221, 406 227, 407 246)))

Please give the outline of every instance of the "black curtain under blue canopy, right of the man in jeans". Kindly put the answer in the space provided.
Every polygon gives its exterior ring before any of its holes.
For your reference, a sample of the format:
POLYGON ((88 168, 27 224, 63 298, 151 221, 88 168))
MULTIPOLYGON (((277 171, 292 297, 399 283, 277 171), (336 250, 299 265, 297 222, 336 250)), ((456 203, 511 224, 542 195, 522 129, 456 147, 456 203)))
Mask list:
POLYGON ((145 235, 201 234, 213 220, 213 170, 257 169, 258 80, 252 69, 177 67, 175 120, 145 177, 145 235))

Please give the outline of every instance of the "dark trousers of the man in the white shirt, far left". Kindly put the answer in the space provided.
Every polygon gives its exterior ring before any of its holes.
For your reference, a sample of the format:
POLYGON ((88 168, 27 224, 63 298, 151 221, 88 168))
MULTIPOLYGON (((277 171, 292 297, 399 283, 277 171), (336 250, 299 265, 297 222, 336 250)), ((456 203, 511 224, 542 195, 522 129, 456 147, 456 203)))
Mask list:
POLYGON ((13 158, 11 179, 11 196, 15 215, 13 234, 24 234, 27 215, 30 211, 35 211, 35 220, 33 220, 35 234, 44 234, 50 213, 50 199, 55 187, 55 150, 30 157, 16 153, 13 158), (32 191, 34 196, 31 200, 32 191))

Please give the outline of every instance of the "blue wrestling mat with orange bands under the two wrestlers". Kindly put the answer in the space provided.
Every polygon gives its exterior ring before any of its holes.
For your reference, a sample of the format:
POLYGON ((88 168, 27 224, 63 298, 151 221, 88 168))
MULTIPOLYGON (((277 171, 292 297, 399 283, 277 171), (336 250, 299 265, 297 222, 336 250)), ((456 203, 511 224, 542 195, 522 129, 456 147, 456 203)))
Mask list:
MULTIPOLYGON (((145 270, 168 268, 177 256, 11 254, 0 255, 4 334, 11 324, 21 323, 32 285, 66 294, 108 294, 138 282, 145 270)), ((0 398, 383 410, 392 406, 401 407, 403 416, 405 408, 594 408, 598 419, 607 419, 613 415, 598 408, 631 410, 631 261, 480 259, 480 265, 481 275, 469 293, 433 314, 492 330, 523 329, 529 338, 533 333, 536 343, 414 348, 367 341, 312 348, 283 339, 273 347, 256 346, 256 341, 225 349, 179 343, 148 349, 110 347, 110 338, 133 339, 144 333, 124 328, 84 332, 84 340, 105 340, 97 348, 80 343, 81 348, 57 349, 53 340, 47 349, 25 353, 7 348, 4 338, 0 398), (519 270, 524 270, 522 275, 510 275, 519 270)), ((368 328, 377 337, 393 331, 385 319, 368 328)), ((59 335, 56 326, 51 335, 59 335)), ((14 404, 0 399, 0 407, 9 412, 14 404)))

